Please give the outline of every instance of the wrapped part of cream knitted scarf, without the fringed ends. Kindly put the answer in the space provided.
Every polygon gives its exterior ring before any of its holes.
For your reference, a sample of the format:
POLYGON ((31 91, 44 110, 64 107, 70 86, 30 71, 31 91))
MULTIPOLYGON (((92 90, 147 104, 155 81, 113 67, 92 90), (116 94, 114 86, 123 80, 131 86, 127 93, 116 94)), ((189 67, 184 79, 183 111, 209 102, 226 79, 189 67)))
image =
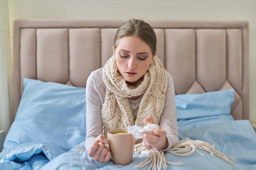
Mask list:
MULTIPOLYGON (((125 128, 137 125, 145 127, 145 118, 151 115, 156 124, 159 124, 163 112, 167 86, 166 70, 157 56, 148 67, 145 76, 136 86, 128 85, 126 80, 118 73, 114 55, 103 67, 102 79, 106 86, 105 102, 102 106, 102 123, 104 135, 108 130, 125 128), (139 105, 137 118, 133 112, 128 98, 143 95, 139 105)), ((141 154, 145 148, 142 141, 136 141, 134 151, 141 154)))

